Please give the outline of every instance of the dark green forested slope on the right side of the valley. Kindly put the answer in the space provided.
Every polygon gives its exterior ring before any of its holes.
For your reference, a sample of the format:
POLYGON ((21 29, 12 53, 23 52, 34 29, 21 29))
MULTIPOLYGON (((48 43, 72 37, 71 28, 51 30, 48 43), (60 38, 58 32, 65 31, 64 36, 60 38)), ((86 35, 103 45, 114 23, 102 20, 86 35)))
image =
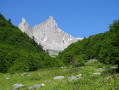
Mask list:
POLYGON ((89 59, 119 66, 119 20, 110 25, 109 31, 71 44, 56 58, 74 67, 84 65, 89 59))

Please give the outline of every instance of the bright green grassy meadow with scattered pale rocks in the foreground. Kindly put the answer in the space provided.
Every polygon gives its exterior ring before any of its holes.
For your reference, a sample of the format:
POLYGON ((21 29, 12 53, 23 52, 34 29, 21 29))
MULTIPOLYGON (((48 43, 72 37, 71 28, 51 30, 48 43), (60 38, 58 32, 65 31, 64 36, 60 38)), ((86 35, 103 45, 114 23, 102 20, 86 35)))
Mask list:
POLYGON ((35 90, 119 90, 119 74, 114 72, 114 67, 94 59, 85 63, 85 66, 76 68, 50 68, 15 74, 0 73, 0 90, 12 90, 16 83, 25 86, 19 90, 28 90, 28 87, 35 84, 45 84, 35 90), (79 74, 80 77, 76 76, 79 74), (55 76, 65 78, 54 80, 55 76), (76 76, 77 80, 70 81, 71 76, 76 76))

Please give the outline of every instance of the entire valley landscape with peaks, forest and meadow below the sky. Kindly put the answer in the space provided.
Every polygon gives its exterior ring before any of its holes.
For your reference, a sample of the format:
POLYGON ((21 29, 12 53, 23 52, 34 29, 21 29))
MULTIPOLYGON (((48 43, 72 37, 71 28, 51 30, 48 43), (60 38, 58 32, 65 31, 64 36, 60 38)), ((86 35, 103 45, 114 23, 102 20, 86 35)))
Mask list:
POLYGON ((18 27, 0 14, 0 90, 119 90, 119 20, 83 39, 52 16, 18 27))

